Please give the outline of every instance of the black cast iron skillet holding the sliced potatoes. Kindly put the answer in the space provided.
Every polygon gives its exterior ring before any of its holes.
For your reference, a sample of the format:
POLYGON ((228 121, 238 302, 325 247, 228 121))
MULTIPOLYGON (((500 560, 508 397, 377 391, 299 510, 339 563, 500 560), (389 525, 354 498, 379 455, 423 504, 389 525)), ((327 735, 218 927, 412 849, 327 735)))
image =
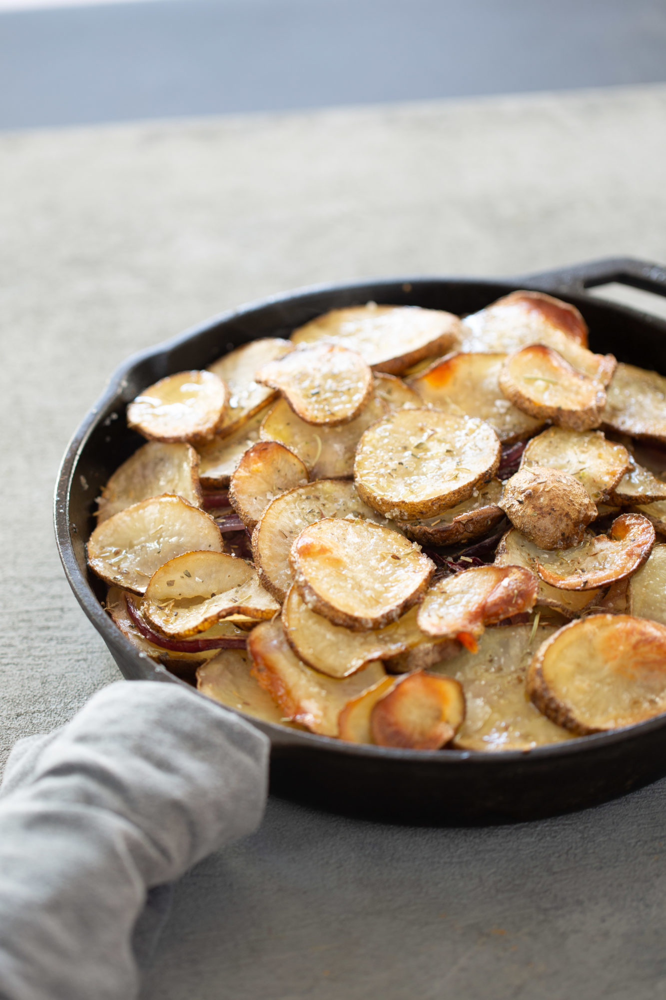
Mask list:
MULTIPOLYGON (((56 536, 67 579, 123 675, 183 683, 137 653, 118 631, 100 605, 104 588, 86 569, 95 498, 143 441, 125 425, 126 405, 141 389, 172 372, 205 368, 224 351, 257 337, 286 337, 335 307, 374 300, 462 314, 524 287, 552 292, 578 306, 594 350, 666 372, 666 322, 585 295, 586 288, 611 281, 666 295, 666 269, 634 260, 602 260, 505 281, 403 278, 318 286, 224 313, 123 364, 76 431, 55 496, 56 536)), ((494 754, 359 746, 251 721, 271 740, 272 791, 393 822, 532 819, 601 802, 666 774, 666 716, 529 752, 494 754)))

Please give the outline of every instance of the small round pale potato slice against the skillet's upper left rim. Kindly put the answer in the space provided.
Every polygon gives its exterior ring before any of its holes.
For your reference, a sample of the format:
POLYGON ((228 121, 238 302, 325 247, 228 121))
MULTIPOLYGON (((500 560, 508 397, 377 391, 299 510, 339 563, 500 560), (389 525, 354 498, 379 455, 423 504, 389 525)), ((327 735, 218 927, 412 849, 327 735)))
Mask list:
POLYGON ((154 441, 207 441, 222 425, 227 398, 212 372, 168 375, 129 404, 127 426, 154 441))

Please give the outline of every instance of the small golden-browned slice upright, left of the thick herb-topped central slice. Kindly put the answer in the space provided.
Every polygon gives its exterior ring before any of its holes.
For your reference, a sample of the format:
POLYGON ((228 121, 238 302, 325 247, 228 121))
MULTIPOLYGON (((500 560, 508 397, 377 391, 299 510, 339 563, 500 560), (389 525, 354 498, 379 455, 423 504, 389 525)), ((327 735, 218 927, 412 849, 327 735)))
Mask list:
POLYGON ((252 530, 272 500, 308 481, 300 458, 277 441, 258 441, 245 452, 229 485, 229 500, 252 530))

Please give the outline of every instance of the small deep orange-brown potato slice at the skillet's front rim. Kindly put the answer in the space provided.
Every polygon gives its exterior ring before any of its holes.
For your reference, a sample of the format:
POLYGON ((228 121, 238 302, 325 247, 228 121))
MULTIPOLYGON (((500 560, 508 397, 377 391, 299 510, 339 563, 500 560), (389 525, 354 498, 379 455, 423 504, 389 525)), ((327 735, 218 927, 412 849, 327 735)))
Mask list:
POLYGON ((465 718, 458 681, 420 671, 396 681, 370 713, 372 742, 381 747, 439 750, 465 718))

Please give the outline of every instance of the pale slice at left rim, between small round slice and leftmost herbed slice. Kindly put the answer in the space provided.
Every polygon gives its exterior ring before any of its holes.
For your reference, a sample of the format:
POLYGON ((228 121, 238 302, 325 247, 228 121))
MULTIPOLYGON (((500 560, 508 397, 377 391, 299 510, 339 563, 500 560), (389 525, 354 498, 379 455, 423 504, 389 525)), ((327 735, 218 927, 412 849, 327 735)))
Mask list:
POLYGON ((141 500, 177 495, 201 506, 199 456, 189 444, 148 441, 113 473, 97 500, 97 523, 141 500))

